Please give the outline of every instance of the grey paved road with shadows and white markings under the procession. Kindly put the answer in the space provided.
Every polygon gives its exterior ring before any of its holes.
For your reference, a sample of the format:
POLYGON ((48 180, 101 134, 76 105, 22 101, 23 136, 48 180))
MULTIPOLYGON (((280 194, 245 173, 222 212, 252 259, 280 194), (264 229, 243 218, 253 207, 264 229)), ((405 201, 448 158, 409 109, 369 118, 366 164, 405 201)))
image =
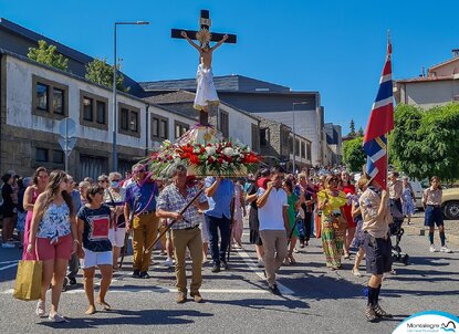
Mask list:
MULTIPOLYGON (((411 230, 410 230, 411 231, 411 230)), ((247 238, 247 236, 246 236, 247 238)), ((352 262, 331 272, 323 265, 319 240, 296 254, 299 264, 283 267, 279 282, 283 296, 267 292, 262 274, 254 267, 253 248, 232 253, 229 271, 204 269, 201 289, 206 303, 175 303, 174 270, 160 265, 156 255, 149 280, 135 280, 128 271, 115 275, 107 301, 114 311, 86 316, 82 284, 61 298, 61 312, 71 322, 53 324, 34 316, 34 302, 17 301, 11 295, 18 250, 0 249, 1 333, 390 333, 408 315, 425 310, 458 314, 459 244, 451 254, 429 253, 426 237, 407 232, 401 242, 411 264, 396 264, 396 275, 384 281, 380 304, 395 314, 393 321, 368 324, 363 288, 368 276, 354 278, 352 262), (13 262, 8 262, 13 261, 13 262), (10 268, 8 268, 11 265, 10 268)), ((127 258, 129 264, 132 259, 127 258)), ((362 268, 363 270, 363 268, 362 268)), ((79 278, 81 283, 81 276, 79 278)))

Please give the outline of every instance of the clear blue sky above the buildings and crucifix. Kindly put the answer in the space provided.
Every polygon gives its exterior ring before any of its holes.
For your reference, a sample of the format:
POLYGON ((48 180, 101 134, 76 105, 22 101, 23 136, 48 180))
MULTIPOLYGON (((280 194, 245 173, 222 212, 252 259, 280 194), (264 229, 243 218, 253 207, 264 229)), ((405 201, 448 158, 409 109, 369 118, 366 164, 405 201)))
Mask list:
POLYGON ((113 61, 113 22, 121 27, 123 71, 137 81, 194 77, 197 55, 170 29, 197 29, 209 9, 211 30, 238 35, 215 53, 215 75, 241 74, 296 91, 319 91, 325 121, 365 128, 393 41, 395 79, 417 76, 459 48, 457 1, 310 0, 0 0, 0 15, 92 56, 113 61))

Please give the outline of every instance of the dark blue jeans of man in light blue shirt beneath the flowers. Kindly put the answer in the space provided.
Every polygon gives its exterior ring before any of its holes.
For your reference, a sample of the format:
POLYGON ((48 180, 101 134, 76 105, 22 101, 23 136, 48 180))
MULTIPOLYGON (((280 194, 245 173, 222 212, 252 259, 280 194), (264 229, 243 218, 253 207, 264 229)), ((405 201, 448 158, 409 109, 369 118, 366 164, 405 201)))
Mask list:
POLYGON ((227 217, 211 217, 207 216, 206 221, 209 227, 209 243, 210 253, 212 255, 213 264, 220 265, 220 262, 226 262, 226 253, 230 242, 230 220, 227 217), (218 247, 218 230, 220 230, 221 243, 220 249, 218 247))

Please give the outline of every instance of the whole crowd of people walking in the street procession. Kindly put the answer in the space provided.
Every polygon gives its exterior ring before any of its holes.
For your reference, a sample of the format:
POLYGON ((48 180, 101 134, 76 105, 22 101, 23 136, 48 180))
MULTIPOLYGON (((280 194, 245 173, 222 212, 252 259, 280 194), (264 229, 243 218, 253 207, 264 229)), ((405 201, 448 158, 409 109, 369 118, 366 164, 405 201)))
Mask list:
MULTIPOLYGON (((249 210, 250 243, 257 264, 264 268, 268 289, 280 295, 277 273, 281 265, 296 262, 294 253, 320 238, 324 264, 342 269, 343 259, 355 259, 352 273, 362 276, 365 257, 368 281, 366 317, 374 322, 390 317, 378 304, 383 274, 392 271, 390 225, 414 213, 414 192, 407 179, 389 176, 383 190, 365 174, 354 184, 346 170, 285 174, 281 166, 260 169, 247 178, 206 177, 197 179, 185 166, 174 166, 168 179, 154 178, 147 166, 133 166, 123 179, 119 173, 101 175, 96 181, 75 182, 62 170, 39 167, 32 177, 14 171, 2 176, 2 248, 14 248, 13 228, 23 249, 23 260, 41 260, 43 279, 38 316, 46 314, 46 291, 51 286, 48 316, 54 322, 66 319, 59 312, 62 288, 76 284, 80 269, 88 307, 96 304, 111 310, 106 301, 112 275, 119 270, 119 257, 132 233, 132 276, 148 279, 155 239, 175 262, 177 303, 187 302, 185 261, 192 262, 191 299, 204 302, 199 292, 202 265, 211 255, 211 272, 228 270, 228 250, 242 248, 243 217, 249 210), (201 189, 202 188, 202 189, 201 189), (182 211, 188 202, 191 205, 182 211), (94 298, 94 276, 102 275, 98 296, 94 298)), ((425 190, 425 225, 429 227, 430 251, 435 225, 439 229, 440 251, 450 252, 445 240, 441 187, 437 177, 425 190)))

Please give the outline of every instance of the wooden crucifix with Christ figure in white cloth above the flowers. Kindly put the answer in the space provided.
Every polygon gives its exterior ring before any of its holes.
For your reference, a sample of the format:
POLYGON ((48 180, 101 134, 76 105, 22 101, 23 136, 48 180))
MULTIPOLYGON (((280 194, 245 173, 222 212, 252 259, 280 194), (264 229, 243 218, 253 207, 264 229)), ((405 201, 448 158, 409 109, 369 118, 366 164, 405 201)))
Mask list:
POLYGON ((208 10, 201 10, 199 19, 199 31, 173 29, 171 38, 186 39, 188 43, 199 52, 199 66, 197 73, 197 88, 194 107, 199 111, 199 123, 201 125, 209 124, 209 106, 218 105, 219 100, 217 91, 213 85, 212 74, 212 52, 222 43, 236 43, 237 36, 234 34, 210 33, 209 28, 211 20, 208 10), (199 41, 200 45, 196 44, 194 40, 199 41), (210 48, 210 42, 218 42, 210 48))

